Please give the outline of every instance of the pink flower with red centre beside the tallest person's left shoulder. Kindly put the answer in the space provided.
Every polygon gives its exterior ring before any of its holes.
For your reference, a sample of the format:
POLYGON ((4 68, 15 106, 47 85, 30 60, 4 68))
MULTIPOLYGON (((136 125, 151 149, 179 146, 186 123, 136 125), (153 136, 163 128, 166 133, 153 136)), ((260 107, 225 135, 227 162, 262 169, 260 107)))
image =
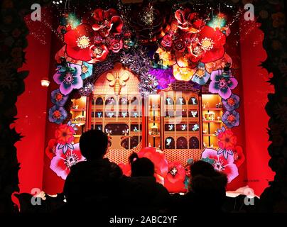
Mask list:
POLYGON ((53 170, 58 177, 66 179, 70 173, 72 165, 76 165, 78 162, 85 161, 85 157, 82 156, 79 148, 79 143, 74 144, 74 150, 67 150, 64 154, 62 150, 56 150, 56 155, 50 162, 50 169, 53 170))

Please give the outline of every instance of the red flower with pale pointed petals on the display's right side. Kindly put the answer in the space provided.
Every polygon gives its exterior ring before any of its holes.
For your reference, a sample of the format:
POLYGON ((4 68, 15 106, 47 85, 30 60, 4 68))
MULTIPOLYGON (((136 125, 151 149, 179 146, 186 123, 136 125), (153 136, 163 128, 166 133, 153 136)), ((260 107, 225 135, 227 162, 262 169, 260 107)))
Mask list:
POLYGON ((222 153, 226 159, 228 155, 233 155, 232 150, 237 144, 237 137, 232 133, 232 131, 226 130, 224 126, 222 126, 222 129, 218 129, 215 135, 217 135, 217 143, 220 147, 220 149, 218 150, 218 154, 222 153))

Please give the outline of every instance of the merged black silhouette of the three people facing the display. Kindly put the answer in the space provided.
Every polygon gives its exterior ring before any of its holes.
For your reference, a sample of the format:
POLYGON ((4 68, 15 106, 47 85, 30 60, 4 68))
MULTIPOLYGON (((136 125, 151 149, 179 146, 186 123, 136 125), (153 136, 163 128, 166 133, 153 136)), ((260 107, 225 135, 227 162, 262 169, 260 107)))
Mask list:
POLYGON ((217 172, 210 163, 197 161, 190 165, 188 193, 170 194, 156 182, 151 160, 132 153, 129 157, 131 177, 126 177, 117 164, 104 157, 107 148, 108 138, 102 131, 83 133, 80 150, 87 161, 71 167, 63 194, 58 194, 57 201, 50 197, 45 209, 38 212, 190 214, 253 211, 244 205, 244 196, 235 199, 226 196, 227 176, 217 172), (61 204, 63 198, 66 202, 61 204))

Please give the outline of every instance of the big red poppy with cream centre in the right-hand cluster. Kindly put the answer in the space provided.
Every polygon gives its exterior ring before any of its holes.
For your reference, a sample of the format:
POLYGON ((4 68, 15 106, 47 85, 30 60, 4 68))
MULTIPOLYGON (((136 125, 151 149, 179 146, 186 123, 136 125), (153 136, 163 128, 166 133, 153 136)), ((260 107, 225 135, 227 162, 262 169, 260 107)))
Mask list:
POLYGON ((226 36, 219 30, 204 26, 199 33, 193 35, 192 43, 188 48, 192 58, 202 63, 214 62, 224 56, 226 36))

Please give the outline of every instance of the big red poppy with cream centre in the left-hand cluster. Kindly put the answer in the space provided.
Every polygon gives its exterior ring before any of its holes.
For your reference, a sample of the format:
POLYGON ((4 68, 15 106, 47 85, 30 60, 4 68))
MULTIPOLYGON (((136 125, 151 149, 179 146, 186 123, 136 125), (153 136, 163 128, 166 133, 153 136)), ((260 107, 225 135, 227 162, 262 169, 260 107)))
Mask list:
POLYGON ((92 27, 83 23, 74 30, 65 34, 66 52, 69 57, 75 60, 91 60, 90 47, 93 44, 94 31, 92 27))

